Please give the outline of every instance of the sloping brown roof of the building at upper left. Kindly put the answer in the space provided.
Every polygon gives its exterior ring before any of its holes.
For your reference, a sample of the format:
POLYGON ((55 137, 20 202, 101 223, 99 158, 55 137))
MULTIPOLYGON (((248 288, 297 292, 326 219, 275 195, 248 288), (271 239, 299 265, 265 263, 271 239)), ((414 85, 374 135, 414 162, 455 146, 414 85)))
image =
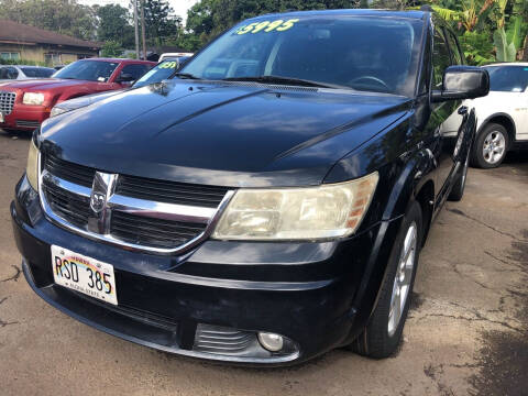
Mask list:
POLYGON ((0 42, 13 44, 55 44, 100 50, 101 44, 0 19, 0 42))

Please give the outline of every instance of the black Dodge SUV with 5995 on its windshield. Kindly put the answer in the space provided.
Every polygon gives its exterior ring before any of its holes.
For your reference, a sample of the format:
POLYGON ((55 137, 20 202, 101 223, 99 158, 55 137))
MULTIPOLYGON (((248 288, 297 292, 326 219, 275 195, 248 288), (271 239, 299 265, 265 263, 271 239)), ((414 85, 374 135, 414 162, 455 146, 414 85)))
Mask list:
POLYGON ((428 11, 244 21, 173 79, 46 121, 11 206, 31 287, 177 354, 388 356, 464 191, 486 70, 428 11), (444 120, 462 116, 458 135, 444 120))

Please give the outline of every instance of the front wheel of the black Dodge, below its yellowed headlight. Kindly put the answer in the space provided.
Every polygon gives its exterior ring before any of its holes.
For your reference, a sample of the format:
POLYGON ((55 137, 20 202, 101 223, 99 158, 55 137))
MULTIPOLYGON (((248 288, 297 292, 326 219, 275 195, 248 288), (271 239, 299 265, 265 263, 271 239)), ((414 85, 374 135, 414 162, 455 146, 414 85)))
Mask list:
POLYGON ((377 306, 369 324, 351 345, 359 354, 383 359, 398 348, 409 310, 421 238, 421 207, 414 201, 396 237, 377 306))

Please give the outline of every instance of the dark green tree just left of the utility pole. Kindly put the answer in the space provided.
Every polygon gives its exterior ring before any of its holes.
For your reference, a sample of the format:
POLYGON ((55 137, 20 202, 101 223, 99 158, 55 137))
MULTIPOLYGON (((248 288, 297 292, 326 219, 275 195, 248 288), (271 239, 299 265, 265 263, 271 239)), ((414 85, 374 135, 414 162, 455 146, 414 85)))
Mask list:
POLYGON ((122 47, 133 47, 134 28, 128 9, 119 4, 95 7, 99 26, 97 38, 101 42, 113 41, 122 47))

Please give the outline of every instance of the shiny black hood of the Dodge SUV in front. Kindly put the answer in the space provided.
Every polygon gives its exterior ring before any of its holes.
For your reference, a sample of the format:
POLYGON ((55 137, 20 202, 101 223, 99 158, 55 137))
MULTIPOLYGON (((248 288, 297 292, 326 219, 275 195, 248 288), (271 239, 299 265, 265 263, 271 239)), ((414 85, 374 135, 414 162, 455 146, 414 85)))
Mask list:
POLYGON ((255 84, 172 81, 46 121, 43 151, 101 170, 233 187, 305 186, 410 99, 255 84))

